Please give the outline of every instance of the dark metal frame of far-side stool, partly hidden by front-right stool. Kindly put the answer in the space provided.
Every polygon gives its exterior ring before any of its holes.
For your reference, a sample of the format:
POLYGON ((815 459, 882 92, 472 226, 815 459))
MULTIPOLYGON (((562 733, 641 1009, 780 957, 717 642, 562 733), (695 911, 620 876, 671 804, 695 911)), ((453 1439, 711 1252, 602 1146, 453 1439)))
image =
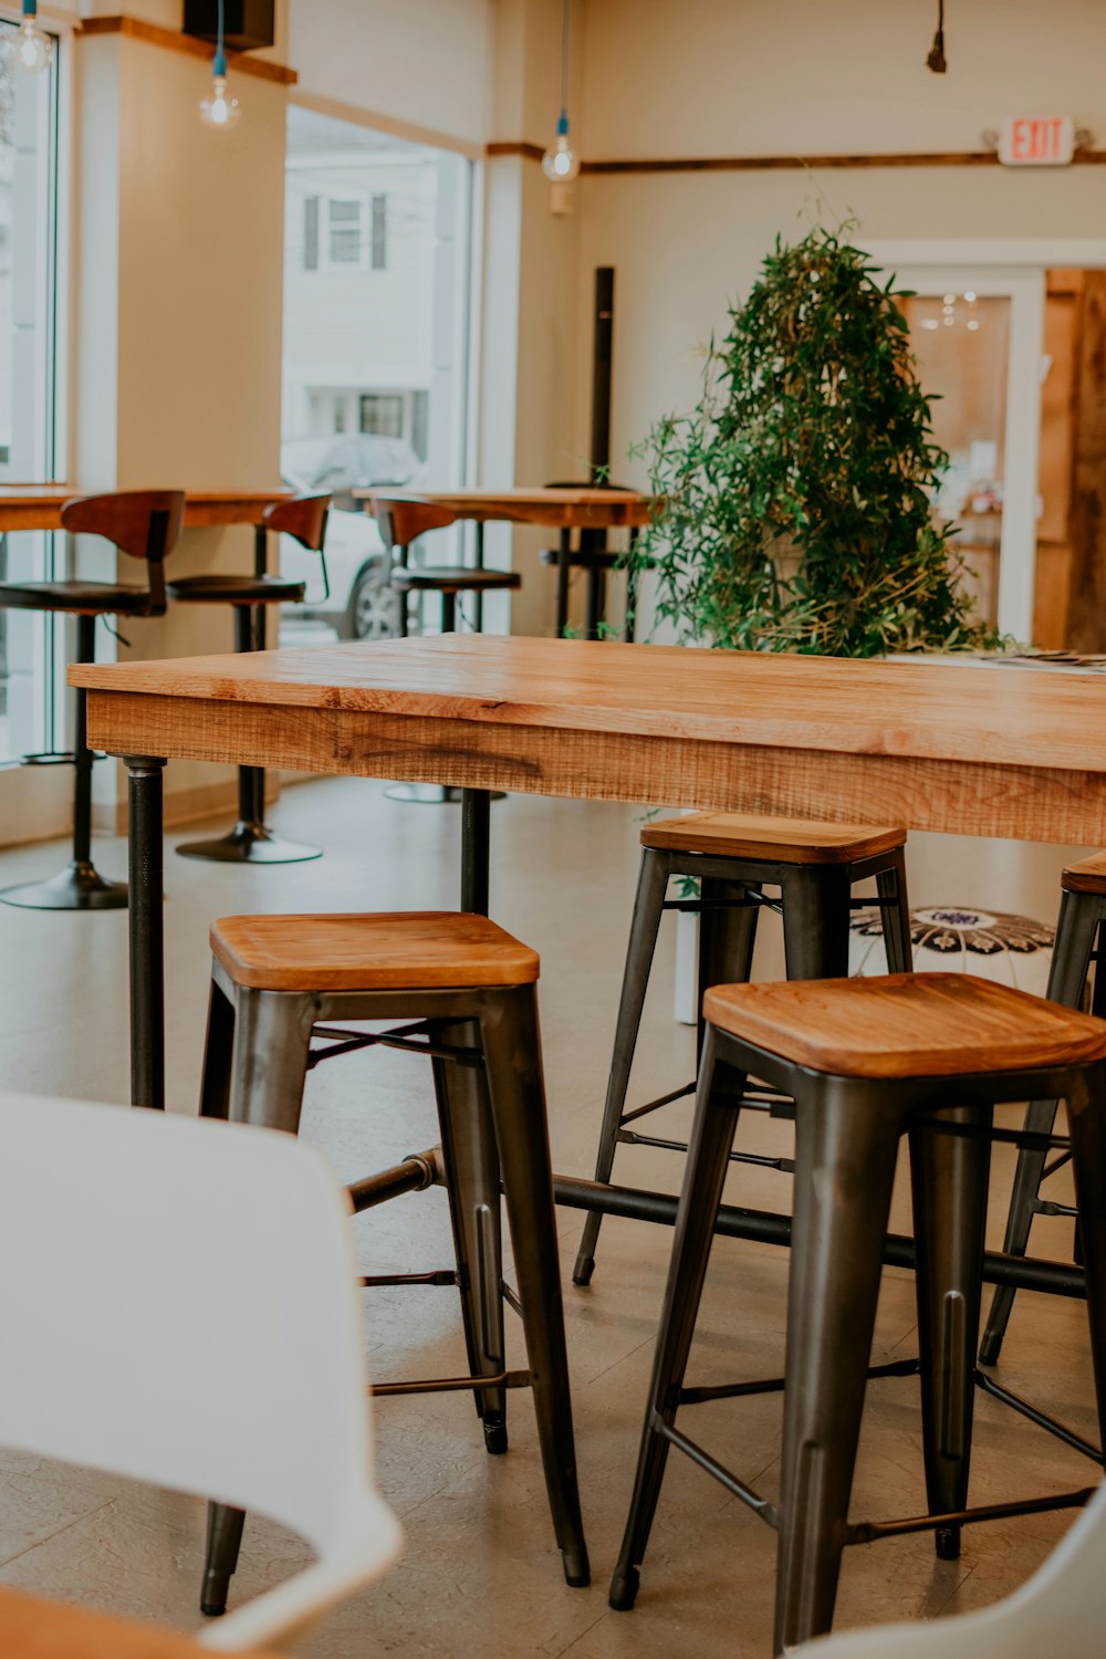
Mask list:
MULTIPOLYGON (((673 1088, 643 1107, 625 1110, 633 1050, 642 1025, 645 992, 657 949, 657 934, 665 911, 691 911, 700 916, 700 1017, 696 1020, 696 1047, 703 1048, 701 997, 708 985, 738 984, 749 979, 753 947, 756 944, 756 917, 761 909, 783 916, 784 956, 788 979, 836 979, 849 972, 849 916, 852 909, 869 907, 871 899, 854 899, 852 886, 876 878, 877 904, 884 916, 887 937, 887 971, 907 972, 912 966, 910 906, 907 901, 907 868, 902 846, 890 848, 871 858, 841 864, 784 864, 774 859, 728 858, 711 853, 680 853, 668 848, 642 848, 642 868, 633 899, 633 921, 627 946, 625 971, 615 1044, 607 1080, 604 1121, 599 1131, 599 1153, 594 1180, 610 1185, 615 1148, 658 1146, 668 1151, 686 1151, 686 1141, 640 1135, 630 1123, 658 1112, 662 1107, 695 1093, 695 1083, 673 1088), (673 876, 693 876, 700 883, 700 896, 668 899, 668 883, 673 876), (764 888, 779 888, 779 898, 769 899, 764 888)), ((771 1097, 753 1090, 746 1093, 746 1107, 769 1110, 771 1097)), ((733 1153, 735 1163, 768 1165, 791 1170, 788 1158, 764 1158, 754 1153, 733 1153)), ((572 1269, 574 1284, 589 1284, 595 1269, 595 1244, 604 1219, 600 1209, 592 1209, 584 1224, 580 1248, 572 1269)))

